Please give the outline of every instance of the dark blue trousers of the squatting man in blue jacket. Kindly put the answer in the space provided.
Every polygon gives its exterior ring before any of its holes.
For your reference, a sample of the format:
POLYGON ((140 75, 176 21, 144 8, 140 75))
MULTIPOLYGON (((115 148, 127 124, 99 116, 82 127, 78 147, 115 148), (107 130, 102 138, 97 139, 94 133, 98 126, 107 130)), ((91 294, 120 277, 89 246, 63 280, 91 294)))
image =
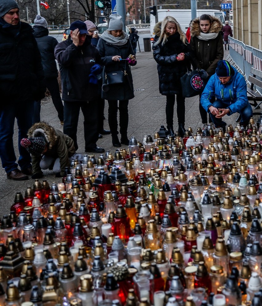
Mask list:
MULTIPOLYGON (((215 101, 212 103, 214 107, 218 108, 227 108, 228 104, 222 103, 220 101, 215 101)), ((253 115, 252 107, 249 103, 247 105, 240 109, 239 112, 241 115, 240 125, 248 125, 248 121, 250 117, 253 115)), ((215 124, 216 127, 226 126, 226 123, 222 121, 222 118, 216 118, 214 115, 210 114, 210 117, 212 119, 212 122, 215 124)))

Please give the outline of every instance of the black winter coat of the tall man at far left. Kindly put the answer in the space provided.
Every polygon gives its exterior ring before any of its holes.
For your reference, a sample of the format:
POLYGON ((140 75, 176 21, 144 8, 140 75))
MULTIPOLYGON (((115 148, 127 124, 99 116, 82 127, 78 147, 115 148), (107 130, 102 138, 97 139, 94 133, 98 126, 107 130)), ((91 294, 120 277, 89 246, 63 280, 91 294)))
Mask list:
MULTIPOLYGON (((2 18, 0 18, 2 19, 2 18)), ((0 21, 0 95, 2 102, 34 101, 44 97, 44 72, 32 27, 21 22, 19 34, 0 21)))

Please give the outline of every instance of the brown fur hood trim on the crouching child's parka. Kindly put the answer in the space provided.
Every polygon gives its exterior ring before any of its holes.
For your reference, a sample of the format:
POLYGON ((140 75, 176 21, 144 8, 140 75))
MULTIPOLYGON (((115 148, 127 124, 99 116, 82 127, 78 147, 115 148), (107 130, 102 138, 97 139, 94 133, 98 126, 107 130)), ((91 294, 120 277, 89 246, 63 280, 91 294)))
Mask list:
POLYGON ((44 121, 40 121, 32 125, 28 130, 27 135, 28 138, 45 137, 49 150, 52 149, 52 147, 57 142, 57 136, 55 134, 54 128, 44 121))

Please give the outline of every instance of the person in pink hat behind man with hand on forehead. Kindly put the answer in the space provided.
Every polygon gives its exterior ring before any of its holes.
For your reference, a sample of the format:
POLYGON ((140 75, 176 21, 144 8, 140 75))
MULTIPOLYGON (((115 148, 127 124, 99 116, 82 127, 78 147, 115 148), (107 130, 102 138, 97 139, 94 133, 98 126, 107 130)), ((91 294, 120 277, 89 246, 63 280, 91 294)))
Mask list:
MULTIPOLYGON (((86 24, 88 35, 92 37, 91 44, 94 47, 97 47, 98 40, 100 37, 98 36, 96 25, 90 20, 86 20, 85 24, 86 24)), ((98 130, 98 138, 103 138, 102 135, 108 135, 110 134, 110 131, 104 129, 105 99, 102 98, 102 82, 103 82, 102 73, 97 76, 97 80, 98 80, 98 85, 99 85, 98 90, 99 90, 99 95, 100 95, 100 98, 97 99, 97 103, 98 103, 97 130, 98 130)))

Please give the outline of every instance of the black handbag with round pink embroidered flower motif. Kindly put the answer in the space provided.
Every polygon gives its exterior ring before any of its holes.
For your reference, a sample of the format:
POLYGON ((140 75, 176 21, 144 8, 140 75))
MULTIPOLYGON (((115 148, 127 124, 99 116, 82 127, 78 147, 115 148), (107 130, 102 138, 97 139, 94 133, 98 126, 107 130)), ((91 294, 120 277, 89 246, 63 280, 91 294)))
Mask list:
MULTIPOLYGON (((205 73, 205 72, 204 72, 205 73)), ((180 79, 182 86, 182 94, 185 98, 199 95, 205 88, 205 75, 199 69, 188 71, 180 79)))

